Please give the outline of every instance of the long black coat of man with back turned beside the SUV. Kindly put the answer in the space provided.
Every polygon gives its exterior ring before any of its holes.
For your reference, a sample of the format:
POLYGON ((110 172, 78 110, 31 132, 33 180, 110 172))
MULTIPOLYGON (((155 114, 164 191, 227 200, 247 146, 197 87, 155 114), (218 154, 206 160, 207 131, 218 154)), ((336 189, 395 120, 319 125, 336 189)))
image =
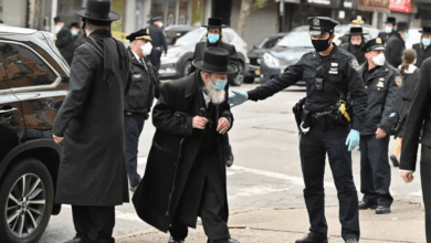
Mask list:
POLYGON ((123 99, 128 86, 125 46, 108 31, 91 36, 111 57, 104 62, 87 43, 76 49, 69 93, 53 134, 64 137, 56 187, 57 203, 118 205, 128 202, 123 99), (117 51, 118 50, 118 51, 117 51), (104 80, 112 62, 111 85, 104 80))

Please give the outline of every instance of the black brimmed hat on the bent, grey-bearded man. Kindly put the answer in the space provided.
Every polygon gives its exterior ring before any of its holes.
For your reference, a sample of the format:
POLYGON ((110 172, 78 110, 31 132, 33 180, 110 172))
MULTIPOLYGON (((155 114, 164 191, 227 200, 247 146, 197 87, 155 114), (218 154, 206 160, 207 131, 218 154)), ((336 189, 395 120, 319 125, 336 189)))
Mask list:
POLYGON ((229 64, 229 52, 224 49, 208 47, 203 52, 203 60, 195 60, 193 66, 198 70, 217 74, 236 73, 236 67, 229 64))

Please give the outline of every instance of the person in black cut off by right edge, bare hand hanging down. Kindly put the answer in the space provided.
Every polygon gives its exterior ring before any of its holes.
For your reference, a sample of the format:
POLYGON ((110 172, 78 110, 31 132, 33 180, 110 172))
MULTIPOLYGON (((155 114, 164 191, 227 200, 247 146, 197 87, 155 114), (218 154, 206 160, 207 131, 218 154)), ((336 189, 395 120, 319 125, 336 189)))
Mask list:
POLYGON ((411 102, 402 137, 400 173, 406 182, 413 181, 418 147, 419 142, 422 144, 420 159, 422 197, 425 208, 427 242, 431 242, 431 59, 422 63, 419 77, 419 86, 411 102))

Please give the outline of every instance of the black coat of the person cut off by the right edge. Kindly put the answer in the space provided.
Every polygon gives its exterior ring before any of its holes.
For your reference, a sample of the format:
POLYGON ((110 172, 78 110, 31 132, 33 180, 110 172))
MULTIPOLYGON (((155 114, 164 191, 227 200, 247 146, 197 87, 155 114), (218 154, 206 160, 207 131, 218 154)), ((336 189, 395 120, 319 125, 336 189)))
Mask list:
MULTIPOLYGON (((419 76, 419 86, 410 106, 402 137, 401 170, 416 170, 420 137, 420 142, 423 146, 431 147, 431 59, 422 63, 419 76), (421 136, 422 125, 423 134, 421 136)), ((429 160, 430 158, 422 159, 422 161, 429 160)))

